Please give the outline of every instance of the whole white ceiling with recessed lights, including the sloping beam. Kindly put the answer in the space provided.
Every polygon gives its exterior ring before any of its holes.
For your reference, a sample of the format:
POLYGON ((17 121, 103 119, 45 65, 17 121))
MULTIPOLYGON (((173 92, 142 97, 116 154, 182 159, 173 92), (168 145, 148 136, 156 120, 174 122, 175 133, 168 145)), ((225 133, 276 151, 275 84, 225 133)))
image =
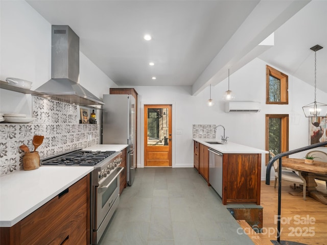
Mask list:
POLYGON ((192 85, 197 94, 255 57, 313 84, 309 48, 319 44, 317 87, 327 92, 327 0, 27 2, 71 27, 81 52, 117 85, 192 85), (272 32, 274 46, 258 45, 272 32))

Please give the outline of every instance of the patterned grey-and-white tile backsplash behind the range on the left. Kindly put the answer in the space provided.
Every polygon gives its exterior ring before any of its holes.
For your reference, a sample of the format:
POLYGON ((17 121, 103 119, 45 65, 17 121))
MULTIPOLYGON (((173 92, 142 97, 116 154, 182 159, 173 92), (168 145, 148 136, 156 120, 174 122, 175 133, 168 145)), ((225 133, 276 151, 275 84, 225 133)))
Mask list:
POLYGON ((30 124, 0 124, 0 176, 22 170, 24 153, 19 146, 26 144, 33 151, 34 135, 44 135, 37 151, 41 158, 71 149, 86 148, 100 142, 100 125, 79 124, 76 105, 32 96, 30 124))

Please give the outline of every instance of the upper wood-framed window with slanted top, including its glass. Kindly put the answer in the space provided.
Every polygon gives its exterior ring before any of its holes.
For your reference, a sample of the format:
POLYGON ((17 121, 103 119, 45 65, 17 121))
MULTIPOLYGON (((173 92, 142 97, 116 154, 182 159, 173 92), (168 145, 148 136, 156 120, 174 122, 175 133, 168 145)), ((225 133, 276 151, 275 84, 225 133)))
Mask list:
POLYGON ((288 104, 288 76, 266 65, 266 104, 288 104))

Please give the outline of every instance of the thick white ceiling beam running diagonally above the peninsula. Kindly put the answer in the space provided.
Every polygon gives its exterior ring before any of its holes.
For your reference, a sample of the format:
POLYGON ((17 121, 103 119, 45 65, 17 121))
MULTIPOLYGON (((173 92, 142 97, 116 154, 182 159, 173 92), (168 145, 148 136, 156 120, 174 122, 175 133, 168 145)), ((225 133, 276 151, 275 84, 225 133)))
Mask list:
POLYGON ((227 77, 228 68, 235 72, 262 54, 270 46, 259 44, 308 3, 310 0, 260 1, 195 81, 192 95, 209 84, 220 83, 227 77))

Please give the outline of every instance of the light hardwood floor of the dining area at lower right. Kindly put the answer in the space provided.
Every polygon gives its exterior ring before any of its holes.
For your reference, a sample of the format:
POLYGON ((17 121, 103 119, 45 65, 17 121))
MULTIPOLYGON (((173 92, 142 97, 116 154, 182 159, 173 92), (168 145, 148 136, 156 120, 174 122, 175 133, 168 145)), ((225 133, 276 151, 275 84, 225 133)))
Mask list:
MULTIPOLYGON (((316 181, 317 189, 327 194, 324 181, 316 181)), ((292 190, 290 182, 282 182, 281 202, 281 240, 296 241, 304 244, 327 244, 327 205, 311 197, 304 201, 302 196, 288 193, 292 190)), ((263 207, 263 233, 259 236, 261 244, 272 244, 277 236, 278 187, 274 181, 261 183, 261 206, 263 207)))

